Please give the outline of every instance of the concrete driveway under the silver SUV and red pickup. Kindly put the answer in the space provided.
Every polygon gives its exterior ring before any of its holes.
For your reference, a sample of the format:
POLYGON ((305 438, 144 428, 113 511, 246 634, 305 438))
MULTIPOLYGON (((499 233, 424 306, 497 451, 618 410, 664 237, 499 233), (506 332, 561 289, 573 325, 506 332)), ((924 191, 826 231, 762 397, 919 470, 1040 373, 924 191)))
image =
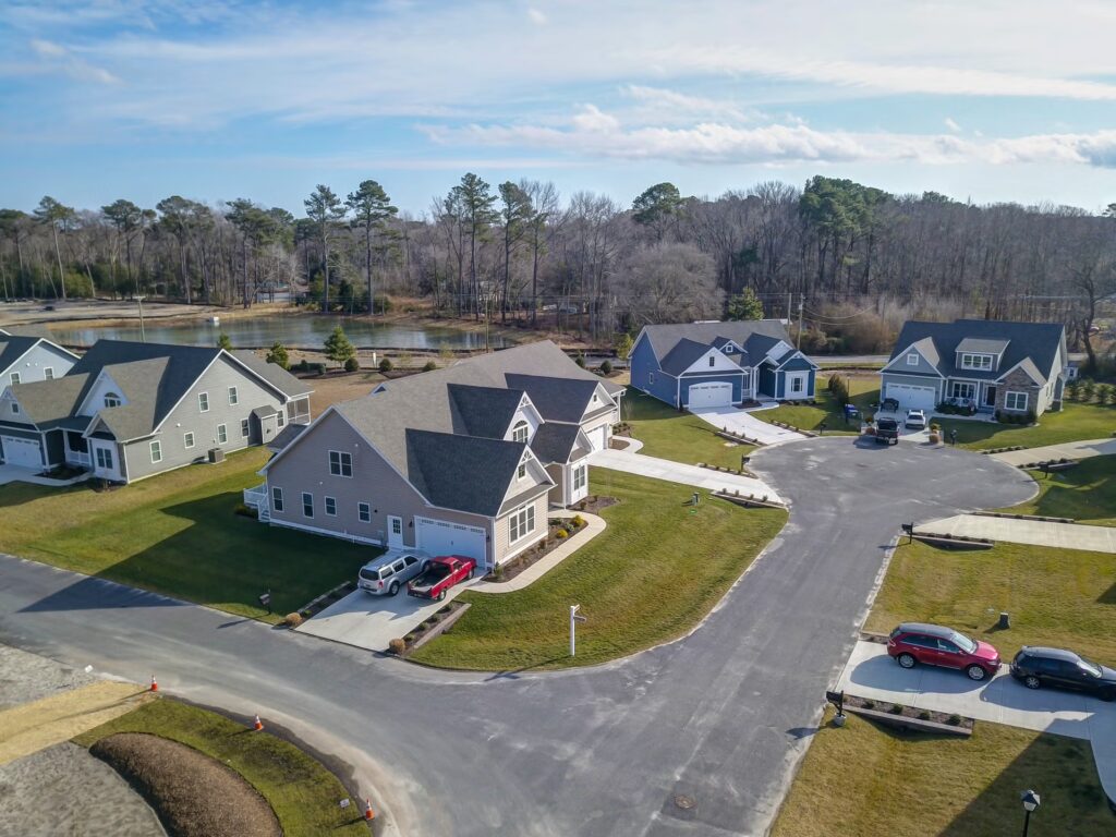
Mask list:
POLYGON ((372 596, 364 590, 354 590, 312 619, 304 622, 296 631, 356 648, 387 651, 392 639, 403 638, 444 607, 446 602, 452 602, 462 590, 479 581, 478 576, 451 587, 442 602, 415 598, 404 590, 394 596, 372 596))

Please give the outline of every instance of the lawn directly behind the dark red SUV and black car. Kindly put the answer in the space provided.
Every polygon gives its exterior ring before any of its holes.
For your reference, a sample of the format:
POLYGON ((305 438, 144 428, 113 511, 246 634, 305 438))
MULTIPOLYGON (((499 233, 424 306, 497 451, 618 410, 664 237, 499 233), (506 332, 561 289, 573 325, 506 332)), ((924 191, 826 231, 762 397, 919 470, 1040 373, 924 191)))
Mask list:
POLYGON ((1116 664, 1116 555, 998 543, 951 551, 925 543, 895 550, 865 625, 950 625, 1010 660, 1021 645, 1068 647, 1116 664), (995 631, 1001 610, 1011 628, 995 631))

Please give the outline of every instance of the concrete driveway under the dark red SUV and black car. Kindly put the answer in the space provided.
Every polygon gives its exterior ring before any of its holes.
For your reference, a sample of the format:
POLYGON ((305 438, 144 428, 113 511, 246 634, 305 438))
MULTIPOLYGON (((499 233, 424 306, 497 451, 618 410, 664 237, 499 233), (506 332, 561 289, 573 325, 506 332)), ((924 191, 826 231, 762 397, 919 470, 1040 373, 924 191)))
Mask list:
POLYGON ((949 712, 1009 727, 1089 741, 1100 786, 1116 801, 1116 706, 1075 692, 1027 689, 1008 666, 978 683, 963 672, 929 666, 907 671, 879 643, 858 642, 838 690, 932 712, 949 712))

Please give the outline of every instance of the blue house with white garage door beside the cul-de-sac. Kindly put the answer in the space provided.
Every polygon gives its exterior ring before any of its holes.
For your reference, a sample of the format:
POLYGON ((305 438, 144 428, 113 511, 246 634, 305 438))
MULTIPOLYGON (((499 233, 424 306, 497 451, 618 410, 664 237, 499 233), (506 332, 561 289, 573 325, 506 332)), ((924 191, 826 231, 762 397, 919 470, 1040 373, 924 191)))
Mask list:
POLYGON ((644 326, 631 365, 632 386, 686 408, 812 398, 818 371, 777 319, 644 326))

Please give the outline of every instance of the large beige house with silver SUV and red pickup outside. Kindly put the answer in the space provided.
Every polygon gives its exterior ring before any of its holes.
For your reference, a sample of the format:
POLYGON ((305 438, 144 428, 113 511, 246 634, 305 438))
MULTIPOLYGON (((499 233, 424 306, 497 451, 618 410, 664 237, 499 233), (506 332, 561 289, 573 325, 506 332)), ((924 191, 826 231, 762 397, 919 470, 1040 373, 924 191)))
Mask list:
POLYGON ((388 381, 281 434, 246 502, 272 526, 491 569, 586 496, 622 392, 550 341, 388 381))

